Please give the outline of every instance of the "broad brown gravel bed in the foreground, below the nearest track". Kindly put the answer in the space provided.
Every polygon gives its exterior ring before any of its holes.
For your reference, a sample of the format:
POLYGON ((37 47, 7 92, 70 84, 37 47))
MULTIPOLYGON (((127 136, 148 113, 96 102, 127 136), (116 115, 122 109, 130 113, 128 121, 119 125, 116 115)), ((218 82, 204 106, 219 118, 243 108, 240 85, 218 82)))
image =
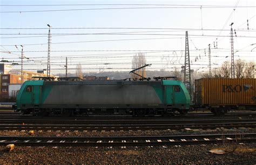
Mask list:
POLYGON ((1 163, 256 163, 256 143, 239 145, 237 152, 217 155, 208 152, 224 146, 154 147, 0 147, 1 163))

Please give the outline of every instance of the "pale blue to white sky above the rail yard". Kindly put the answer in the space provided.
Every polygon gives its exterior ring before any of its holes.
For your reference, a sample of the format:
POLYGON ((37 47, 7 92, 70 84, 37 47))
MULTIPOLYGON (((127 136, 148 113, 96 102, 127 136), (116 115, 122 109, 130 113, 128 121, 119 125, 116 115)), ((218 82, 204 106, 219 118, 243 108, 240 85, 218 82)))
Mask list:
POLYGON ((138 52, 144 52, 147 64, 152 64, 148 69, 171 71, 184 65, 186 30, 191 67, 206 72, 208 44, 211 44, 212 68, 231 60, 232 22, 237 35, 234 34, 234 58, 256 61, 253 0, 0 2, 1 58, 20 63, 19 45, 24 45, 25 57, 29 58, 25 59, 25 70, 46 68, 47 24, 52 26, 52 73, 65 72, 65 57, 69 72, 75 72, 77 64, 82 65, 83 72, 130 71, 132 57, 138 52), (11 54, 6 53, 9 51, 11 54))

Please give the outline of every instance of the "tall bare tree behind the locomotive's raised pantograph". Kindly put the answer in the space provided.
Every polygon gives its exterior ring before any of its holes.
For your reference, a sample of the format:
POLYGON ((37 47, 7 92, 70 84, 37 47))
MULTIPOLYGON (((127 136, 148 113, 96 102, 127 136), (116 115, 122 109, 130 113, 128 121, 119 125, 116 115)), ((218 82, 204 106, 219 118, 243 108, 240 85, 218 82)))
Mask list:
MULTIPOLYGON (((138 53, 133 56, 132 59, 132 69, 136 69, 138 67, 142 67, 146 64, 146 58, 144 53, 138 53)), ((135 71, 135 73, 142 75, 143 77, 146 77, 146 68, 142 68, 140 70, 135 71)), ((132 78, 137 80, 140 77, 136 74, 132 74, 132 78)))

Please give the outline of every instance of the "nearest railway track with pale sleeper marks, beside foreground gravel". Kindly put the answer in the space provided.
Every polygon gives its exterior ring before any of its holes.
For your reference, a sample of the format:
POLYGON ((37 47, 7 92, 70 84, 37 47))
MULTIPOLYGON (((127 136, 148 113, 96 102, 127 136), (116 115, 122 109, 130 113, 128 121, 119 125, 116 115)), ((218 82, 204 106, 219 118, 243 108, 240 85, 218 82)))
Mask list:
POLYGON ((0 145, 16 146, 166 146, 223 143, 223 141, 256 142, 256 134, 207 134, 172 136, 102 136, 44 137, 0 136, 0 145))

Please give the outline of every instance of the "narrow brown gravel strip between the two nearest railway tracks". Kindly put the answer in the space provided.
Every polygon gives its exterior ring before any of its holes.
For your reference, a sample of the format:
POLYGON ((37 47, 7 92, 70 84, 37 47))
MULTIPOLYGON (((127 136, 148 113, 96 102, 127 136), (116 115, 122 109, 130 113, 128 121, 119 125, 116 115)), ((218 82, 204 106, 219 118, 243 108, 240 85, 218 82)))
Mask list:
MULTIPOLYGON (((197 129, 196 131, 186 130, 114 130, 114 131, 76 131, 76 130, 35 130, 34 136, 164 136, 164 135, 190 135, 190 134, 242 134, 255 133, 256 128, 242 129, 197 129)), ((0 130, 0 136, 29 136, 29 130, 0 130)))

